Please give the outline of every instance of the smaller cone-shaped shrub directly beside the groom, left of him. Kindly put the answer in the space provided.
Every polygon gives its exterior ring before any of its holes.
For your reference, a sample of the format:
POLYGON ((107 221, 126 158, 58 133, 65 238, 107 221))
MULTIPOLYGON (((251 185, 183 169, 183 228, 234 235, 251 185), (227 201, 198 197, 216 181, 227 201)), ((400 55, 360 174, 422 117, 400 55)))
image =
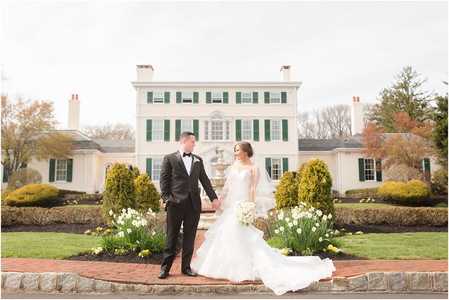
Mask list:
POLYGON ((158 189, 150 181, 150 177, 144 173, 134 179, 134 182, 137 190, 136 210, 145 213, 151 208, 153 212, 159 212, 158 189))

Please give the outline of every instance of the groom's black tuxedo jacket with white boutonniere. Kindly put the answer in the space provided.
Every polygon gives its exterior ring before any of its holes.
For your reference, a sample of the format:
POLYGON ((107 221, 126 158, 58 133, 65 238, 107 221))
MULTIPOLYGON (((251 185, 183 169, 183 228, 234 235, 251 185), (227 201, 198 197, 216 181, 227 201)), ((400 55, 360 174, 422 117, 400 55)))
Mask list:
POLYGON ((190 193, 195 211, 201 212, 198 180, 201 182, 209 199, 211 201, 216 199, 217 195, 212 189, 211 181, 209 181, 206 175, 201 157, 192 153, 192 166, 190 167, 189 176, 179 151, 164 156, 159 179, 159 186, 164 202, 170 200, 174 208, 183 209, 187 204, 190 193), (194 163, 195 158, 199 161, 194 163))

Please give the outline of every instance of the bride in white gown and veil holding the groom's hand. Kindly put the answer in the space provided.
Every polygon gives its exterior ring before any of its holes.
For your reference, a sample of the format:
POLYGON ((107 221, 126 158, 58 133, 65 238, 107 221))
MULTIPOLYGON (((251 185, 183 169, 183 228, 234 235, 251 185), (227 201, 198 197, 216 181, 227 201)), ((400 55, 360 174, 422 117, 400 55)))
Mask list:
POLYGON ((251 144, 239 142, 234 151, 236 162, 220 194, 220 202, 214 207, 219 208, 221 203, 223 213, 204 234, 206 240, 196 252, 192 269, 206 277, 233 282, 262 280, 276 295, 330 277, 335 271, 332 260, 284 256, 265 242, 263 231, 238 222, 238 203, 254 202, 258 216, 266 219, 267 211, 276 206, 276 201, 271 179, 251 144))

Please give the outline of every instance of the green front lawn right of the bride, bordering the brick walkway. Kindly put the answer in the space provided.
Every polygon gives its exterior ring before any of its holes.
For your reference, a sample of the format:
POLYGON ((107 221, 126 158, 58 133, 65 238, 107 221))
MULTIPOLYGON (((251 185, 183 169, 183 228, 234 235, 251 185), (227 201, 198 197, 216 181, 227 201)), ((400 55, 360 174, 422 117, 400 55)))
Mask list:
POLYGON ((346 235, 338 239, 343 252, 370 259, 448 259, 447 232, 346 235))

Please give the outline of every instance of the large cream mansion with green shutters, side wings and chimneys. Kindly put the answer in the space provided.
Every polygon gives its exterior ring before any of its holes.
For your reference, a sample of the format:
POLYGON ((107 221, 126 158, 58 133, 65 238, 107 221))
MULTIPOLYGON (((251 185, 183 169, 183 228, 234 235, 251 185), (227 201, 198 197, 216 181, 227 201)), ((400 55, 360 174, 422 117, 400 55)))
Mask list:
MULTIPOLYGON (((137 166, 159 187, 163 156, 179 149, 181 132, 194 132, 194 153, 203 158, 209 177, 216 176, 211 163, 217 149, 223 148, 225 162, 233 161, 233 146, 238 141, 254 145, 265 168, 276 183, 285 171, 296 171, 311 158, 324 159, 333 180, 333 190, 378 187, 381 172, 375 160, 364 158, 362 103, 353 99, 352 137, 346 140, 298 140, 297 91, 301 82, 290 81, 290 66, 282 66, 281 81, 203 82, 153 81, 150 65, 137 66, 136 139, 95 140, 79 132, 78 95, 69 100, 68 130, 76 139, 70 163, 50 159, 32 161, 43 183, 59 189, 102 192, 106 174, 116 161, 137 166)), ((433 162, 423 168, 433 172, 433 162)), ((6 188, 3 172, 1 188, 6 188)))

